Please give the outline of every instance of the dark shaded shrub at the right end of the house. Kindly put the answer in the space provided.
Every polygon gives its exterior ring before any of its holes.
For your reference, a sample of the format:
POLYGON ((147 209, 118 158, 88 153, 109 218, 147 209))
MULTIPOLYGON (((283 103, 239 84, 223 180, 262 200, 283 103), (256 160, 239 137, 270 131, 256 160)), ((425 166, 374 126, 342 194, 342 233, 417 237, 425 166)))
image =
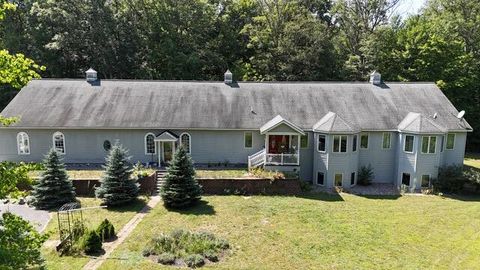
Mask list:
POLYGON ((438 168, 437 179, 432 179, 433 189, 438 192, 458 193, 465 184, 462 165, 448 165, 438 168))

